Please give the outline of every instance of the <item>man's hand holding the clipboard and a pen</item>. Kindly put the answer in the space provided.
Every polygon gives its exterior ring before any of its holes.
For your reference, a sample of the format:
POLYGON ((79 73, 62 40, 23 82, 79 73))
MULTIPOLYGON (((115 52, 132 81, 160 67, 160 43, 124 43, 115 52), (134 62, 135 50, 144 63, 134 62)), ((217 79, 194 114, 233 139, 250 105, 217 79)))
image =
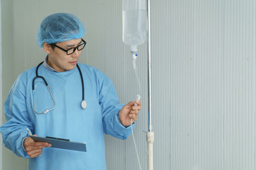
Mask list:
MULTIPOLYGON (((36 136, 35 134, 33 136, 36 136)), ((23 142, 23 146, 28 153, 29 157, 34 158, 40 155, 43 148, 51 147, 52 145, 45 142, 33 141, 31 138, 26 138, 23 142)))

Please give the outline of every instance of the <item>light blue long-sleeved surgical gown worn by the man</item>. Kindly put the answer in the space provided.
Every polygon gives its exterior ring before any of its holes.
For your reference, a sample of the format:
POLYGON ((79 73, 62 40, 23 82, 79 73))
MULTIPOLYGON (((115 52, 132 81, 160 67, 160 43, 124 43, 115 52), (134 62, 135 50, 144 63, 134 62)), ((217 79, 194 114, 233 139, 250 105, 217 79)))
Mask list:
MULTIPOLYGON (((38 136, 52 136, 86 142, 87 152, 44 148, 40 157, 29 160, 29 169, 106 169, 104 133, 126 139, 131 128, 118 121, 118 111, 124 106, 118 101, 115 87, 109 78, 86 64, 79 64, 84 78, 84 98, 87 108, 81 108, 82 84, 77 67, 56 73, 40 66, 56 101, 56 108, 38 115, 33 110, 32 81, 36 67, 20 74, 4 103, 6 123, 0 127, 4 146, 20 157, 29 158, 22 148, 28 128, 38 136)), ((42 113, 54 106, 42 79, 35 81, 35 110, 42 113)), ((134 125, 132 125, 133 127, 134 125)))

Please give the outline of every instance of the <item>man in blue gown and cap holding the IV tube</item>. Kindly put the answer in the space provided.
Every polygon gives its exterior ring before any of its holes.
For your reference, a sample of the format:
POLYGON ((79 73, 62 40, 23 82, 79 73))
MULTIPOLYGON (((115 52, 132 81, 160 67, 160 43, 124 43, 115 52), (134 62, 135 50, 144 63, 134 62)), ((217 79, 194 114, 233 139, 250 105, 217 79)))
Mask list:
POLYGON ((84 33, 74 15, 46 17, 36 41, 47 57, 20 74, 4 103, 7 122, 0 127, 4 146, 30 157, 29 169, 106 169, 104 133, 126 139, 138 117, 140 101, 138 106, 120 104, 104 73, 77 63, 86 45, 84 33), (35 142, 27 129, 37 136, 85 141, 87 152, 35 142))

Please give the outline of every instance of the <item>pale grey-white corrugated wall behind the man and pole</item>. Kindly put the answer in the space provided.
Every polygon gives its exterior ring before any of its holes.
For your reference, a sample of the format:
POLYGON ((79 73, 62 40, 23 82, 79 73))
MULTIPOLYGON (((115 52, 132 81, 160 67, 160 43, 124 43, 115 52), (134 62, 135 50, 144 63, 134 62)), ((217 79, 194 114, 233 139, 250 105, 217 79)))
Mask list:
MULTIPOLYGON (((115 84, 122 103, 138 87, 122 43, 122 1, 2 1, 3 99, 20 72, 44 60, 35 41, 44 17, 74 13, 87 32, 81 62, 115 84)), ((152 113, 159 170, 254 170, 255 0, 152 1, 152 113)), ((139 48, 142 104, 134 135, 147 169, 147 45, 139 48)), ((109 170, 138 169, 132 139, 106 136, 109 170)), ((28 162, 3 149, 3 169, 28 162), (15 163, 13 163, 15 162, 15 163)))

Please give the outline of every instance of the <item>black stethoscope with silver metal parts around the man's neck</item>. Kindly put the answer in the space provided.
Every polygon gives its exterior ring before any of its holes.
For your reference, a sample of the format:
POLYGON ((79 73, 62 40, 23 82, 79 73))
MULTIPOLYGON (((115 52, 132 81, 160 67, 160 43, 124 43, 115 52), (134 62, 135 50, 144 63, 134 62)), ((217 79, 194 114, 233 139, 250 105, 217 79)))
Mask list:
MULTIPOLYGON (((43 61, 43 62, 44 62, 44 61, 43 61)), ((36 76, 35 76, 35 78, 33 78, 33 81, 32 81, 33 105, 34 105, 34 106, 33 106, 33 109, 34 109, 35 113, 37 113, 37 114, 46 114, 46 113, 48 113, 49 111, 54 110, 54 108, 56 108, 56 102, 55 102, 55 100, 54 100, 54 97, 52 96, 52 92, 51 92, 51 90, 50 90, 50 88, 49 88, 49 85, 48 85, 47 81, 44 79, 43 76, 38 76, 38 68, 39 68, 39 66, 40 66, 41 64, 43 64, 43 62, 40 62, 40 64, 38 64, 38 66, 36 67, 36 76), (42 113, 38 113, 38 112, 36 112, 36 110, 35 110, 35 80, 36 80, 36 78, 42 78, 42 80, 44 80, 44 83, 45 83, 47 89, 49 90, 49 92, 50 92, 50 94, 51 94, 52 101, 54 102, 54 106, 53 106, 51 109, 45 110, 45 111, 43 111, 42 113)), ((77 66, 77 69, 78 69, 78 71, 79 71, 79 74, 80 74, 80 77, 81 77, 81 81, 82 81, 83 101, 82 101, 82 103, 81 103, 81 106, 82 106, 83 109, 86 109, 87 103, 86 103, 86 101, 84 100, 84 79, 83 79, 83 74, 82 74, 81 69, 80 69, 80 67, 78 66, 78 64, 77 64, 76 66, 77 66)))

